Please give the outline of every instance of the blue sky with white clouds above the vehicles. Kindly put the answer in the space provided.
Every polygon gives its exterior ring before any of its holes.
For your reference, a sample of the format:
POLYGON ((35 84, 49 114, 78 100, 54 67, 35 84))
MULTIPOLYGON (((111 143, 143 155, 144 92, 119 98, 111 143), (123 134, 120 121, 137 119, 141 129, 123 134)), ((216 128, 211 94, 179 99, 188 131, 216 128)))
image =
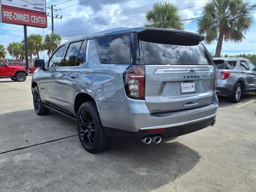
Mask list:
MULTIPOLYGON (((13 0, 15 1, 15 0, 13 0)), ((62 15, 62 19, 54 18, 54 33, 62 37, 62 43, 76 37, 76 34, 87 34, 116 27, 138 27, 146 23, 145 13, 152 9, 155 2, 164 0, 46 0, 46 7, 54 6, 54 16, 62 15), (68 36, 74 35, 74 36, 68 36)), ((183 20, 200 17, 207 0, 170 0, 179 9, 183 20)), ((249 5, 256 0, 248 0, 249 5)), ((50 13, 50 9, 47 9, 50 13)), ((242 53, 256 54, 256 11, 252 27, 244 34, 242 43, 223 42, 221 54, 236 55, 242 53)), ((196 32, 197 22, 185 21, 185 31, 196 32), (187 22, 187 23, 186 23, 187 22)), ((51 18, 48 17, 48 28, 28 27, 28 35, 41 35, 51 32, 51 18)), ((10 42, 20 42, 24 38, 23 26, 0 24, 0 44, 5 48, 10 42)), ((215 53, 217 42, 206 45, 209 52, 215 53)), ((48 60, 47 51, 40 52, 40 58, 48 60)), ((8 54, 8 58, 11 56, 8 54)))

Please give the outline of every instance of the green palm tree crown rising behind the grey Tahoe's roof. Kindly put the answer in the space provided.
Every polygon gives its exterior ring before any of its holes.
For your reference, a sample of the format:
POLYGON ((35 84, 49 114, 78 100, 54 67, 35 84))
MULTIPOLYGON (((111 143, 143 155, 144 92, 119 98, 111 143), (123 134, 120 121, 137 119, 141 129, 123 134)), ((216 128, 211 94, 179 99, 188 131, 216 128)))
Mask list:
POLYGON ((184 30, 178 8, 169 2, 154 3, 153 9, 146 12, 146 27, 172 28, 184 30))

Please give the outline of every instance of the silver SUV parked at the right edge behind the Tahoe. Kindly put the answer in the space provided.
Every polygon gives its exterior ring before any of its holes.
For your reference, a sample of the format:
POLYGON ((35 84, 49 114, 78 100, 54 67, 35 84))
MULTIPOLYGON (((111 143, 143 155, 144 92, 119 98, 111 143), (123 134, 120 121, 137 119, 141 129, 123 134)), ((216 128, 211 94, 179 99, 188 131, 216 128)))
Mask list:
POLYGON ((244 57, 214 58, 218 67, 217 94, 227 95, 232 102, 239 102, 242 94, 256 93, 256 67, 244 57))

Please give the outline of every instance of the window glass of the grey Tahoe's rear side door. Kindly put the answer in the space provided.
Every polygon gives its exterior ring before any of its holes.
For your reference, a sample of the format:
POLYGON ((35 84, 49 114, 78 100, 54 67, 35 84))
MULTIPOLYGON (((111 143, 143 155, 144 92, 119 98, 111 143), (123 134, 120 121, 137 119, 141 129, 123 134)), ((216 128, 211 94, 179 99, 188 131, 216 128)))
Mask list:
POLYGON ((68 47, 68 51, 64 60, 64 67, 77 66, 76 58, 78 56, 78 52, 80 50, 81 45, 82 45, 82 41, 70 43, 70 46, 68 47))

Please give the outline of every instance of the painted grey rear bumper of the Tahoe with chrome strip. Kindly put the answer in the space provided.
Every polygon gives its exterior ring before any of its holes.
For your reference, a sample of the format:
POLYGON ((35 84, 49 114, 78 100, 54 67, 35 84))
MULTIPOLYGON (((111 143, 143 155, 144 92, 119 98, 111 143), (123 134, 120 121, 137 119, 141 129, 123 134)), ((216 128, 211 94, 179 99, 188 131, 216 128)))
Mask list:
MULTIPOLYGON (((212 104, 208 106, 164 114, 150 114, 144 100, 126 99, 122 103, 99 102, 97 106, 102 125, 106 129, 114 128, 137 133, 158 128, 177 130, 178 127, 181 130, 188 124, 211 121, 217 114, 218 98, 214 95, 212 104)), ((204 127, 211 122, 206 122, 204 127)))

